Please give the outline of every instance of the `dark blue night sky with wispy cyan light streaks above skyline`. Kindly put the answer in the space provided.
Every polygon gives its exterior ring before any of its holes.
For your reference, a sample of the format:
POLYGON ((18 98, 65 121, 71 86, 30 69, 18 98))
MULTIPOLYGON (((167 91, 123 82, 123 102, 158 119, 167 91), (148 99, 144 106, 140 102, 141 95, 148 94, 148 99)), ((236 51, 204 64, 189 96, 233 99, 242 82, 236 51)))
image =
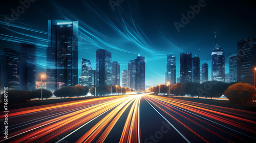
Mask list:
POLYGON ((206 63, 209 57, 211 79, 215 32, 217 44, 225 52, 225 73, 228 74, 228 56, 237 53, 237 41, 256 34, 256 5, 253 1, 205 1, 204 7, 179 29, 180 32, 174 22, 181 23, 181 14, 187 15, 191 11, 189 6, 198 5, 201 1, 112 2, 120 4, 113 10, 109 0, 36 0, 9 25, 4 17, 11 18, 11 9, 17 11, 22 4, 19 0, 2 2, 0 48, 9 47, 19 52, 20 42, 36 44, 39 74, 46 71, 48 19, 79 20, 78 75, 81 75, 81 58, 90 60, 95 69, 97 49, 112 53, 112 61, 120 63, 120 73, 127 69, 129 60, 140 54, 145 57, 147 88, 164 84, 167 54, 176 56, 178 78, 180 53, 192 52, 195 57, 199 49, 201 64, 206 63))

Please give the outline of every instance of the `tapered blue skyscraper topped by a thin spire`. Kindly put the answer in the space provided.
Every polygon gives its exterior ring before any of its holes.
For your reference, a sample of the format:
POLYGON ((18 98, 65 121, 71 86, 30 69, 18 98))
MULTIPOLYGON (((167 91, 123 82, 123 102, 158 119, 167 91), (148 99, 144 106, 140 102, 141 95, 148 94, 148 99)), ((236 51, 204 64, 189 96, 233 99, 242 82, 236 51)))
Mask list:
POLYGON ((216 44, 216 35, 214 50, 211 52, 211 80, 225 82, 225 55, 221 46, 216 44))

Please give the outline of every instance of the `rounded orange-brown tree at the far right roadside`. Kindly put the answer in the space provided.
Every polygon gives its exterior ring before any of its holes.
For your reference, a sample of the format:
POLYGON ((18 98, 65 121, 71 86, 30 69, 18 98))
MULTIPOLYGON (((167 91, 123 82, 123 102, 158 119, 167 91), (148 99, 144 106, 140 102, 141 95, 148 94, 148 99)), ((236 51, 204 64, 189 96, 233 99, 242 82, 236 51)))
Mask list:
POLYGON ((239 104, 245 104, 253 101, 256 89, 248 83, 236 83, 230 85, 225 91, 225 96, 229 101, 239 104))

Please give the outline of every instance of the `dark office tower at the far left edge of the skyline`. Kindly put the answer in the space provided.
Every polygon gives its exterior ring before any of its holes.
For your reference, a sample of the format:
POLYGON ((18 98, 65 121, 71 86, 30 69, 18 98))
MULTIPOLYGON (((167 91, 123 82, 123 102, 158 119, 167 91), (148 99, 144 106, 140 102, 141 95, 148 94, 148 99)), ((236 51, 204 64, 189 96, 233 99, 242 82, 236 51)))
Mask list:
POLYGON ((3 69, 5 70, 2 74, 4 74, 4 86, 8 87, 8 90, 19 90, 20 89, 20 67, 19 60, 20 55, 17 51, 5 48, 5 58, 3 69))

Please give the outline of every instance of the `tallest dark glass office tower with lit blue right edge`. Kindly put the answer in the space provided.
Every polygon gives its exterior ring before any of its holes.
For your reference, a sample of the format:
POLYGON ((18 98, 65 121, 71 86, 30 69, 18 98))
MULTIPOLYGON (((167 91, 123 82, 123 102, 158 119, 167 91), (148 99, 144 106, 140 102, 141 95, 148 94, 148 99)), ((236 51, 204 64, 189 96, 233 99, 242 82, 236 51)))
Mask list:
POLYGON ((47 89, 78 84, 78 21, 48 20, 47 89))

